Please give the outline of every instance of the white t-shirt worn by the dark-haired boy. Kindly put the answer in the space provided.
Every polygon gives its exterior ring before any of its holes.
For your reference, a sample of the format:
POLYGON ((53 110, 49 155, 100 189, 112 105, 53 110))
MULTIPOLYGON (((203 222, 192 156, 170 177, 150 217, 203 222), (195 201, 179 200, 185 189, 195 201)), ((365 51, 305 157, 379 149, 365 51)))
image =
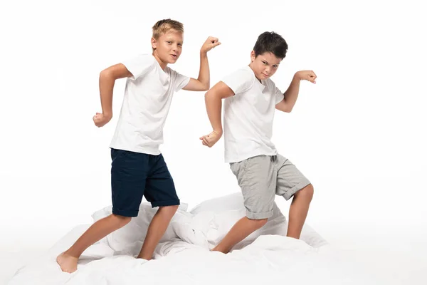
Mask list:
POLYGON ((271 137, 275 105, 284 95, 273 81, 258 81, 249 66, 223 78, 234 94, 224 101, 224 147, 226 162, 239 162, 256 155, 277 155, 271 137))

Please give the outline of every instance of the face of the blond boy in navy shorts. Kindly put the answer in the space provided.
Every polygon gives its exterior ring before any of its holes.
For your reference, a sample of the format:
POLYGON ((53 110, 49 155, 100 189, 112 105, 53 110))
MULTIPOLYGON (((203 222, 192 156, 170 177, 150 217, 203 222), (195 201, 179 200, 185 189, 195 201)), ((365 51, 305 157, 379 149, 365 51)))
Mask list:
POLYGON ((171 29, 157 39, 152 38, 152 48, 164 63, 175 63, 181 55, 183 41, 183 34, 171 29))

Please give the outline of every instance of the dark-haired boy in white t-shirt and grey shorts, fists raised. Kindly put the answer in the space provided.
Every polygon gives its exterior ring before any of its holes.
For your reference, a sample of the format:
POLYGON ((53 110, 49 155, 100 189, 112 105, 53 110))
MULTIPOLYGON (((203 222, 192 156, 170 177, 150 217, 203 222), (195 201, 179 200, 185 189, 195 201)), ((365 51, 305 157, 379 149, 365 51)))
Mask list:
POLYGON ((275 109, 289 113, 300 89, 300 81, 315 83, 313 71, 298 71, 282 93, 270 77, 286 56, 288 43, 274 32, 258 36, 251 63, 228 74, 205 95, 206 111, 213 131, 200 139, 212 147, 224 133, 225 161, 241 187, 246 217, 230 229, 214 251, 227 253, 273 215, 275 195, 292 198, 288 237, 300 238, 313 196, 307 178, 271 142, 275 109), (224 131, 221 107, 224 100, 224 131))

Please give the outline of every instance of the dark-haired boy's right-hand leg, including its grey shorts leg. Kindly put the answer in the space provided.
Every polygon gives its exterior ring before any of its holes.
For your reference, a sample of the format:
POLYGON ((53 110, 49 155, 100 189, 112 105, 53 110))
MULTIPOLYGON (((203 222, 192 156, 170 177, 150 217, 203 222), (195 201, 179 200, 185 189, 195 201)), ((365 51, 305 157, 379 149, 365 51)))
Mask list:
POLYGON ((279 170, 276 194, 283 196, 286 200, 293 197, 286 235, 299 239, 313 197, 313 186, 285 157, 278 155, 277 165, 279 170))

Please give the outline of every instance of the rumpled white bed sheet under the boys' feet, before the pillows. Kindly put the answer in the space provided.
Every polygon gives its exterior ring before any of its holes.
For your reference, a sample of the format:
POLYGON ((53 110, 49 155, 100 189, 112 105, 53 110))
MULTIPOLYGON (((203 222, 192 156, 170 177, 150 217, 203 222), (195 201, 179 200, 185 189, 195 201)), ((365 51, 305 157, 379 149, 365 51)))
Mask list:
MULTIPOLYGON (((175 239, 159 244, 155 259, 145 261, 114 252, 97 243, 83 253, 78 271, 60 271, 56 256, 70 247, 89 225, 65 235, 36 261, 21 267, 9 285, 21 284, 382 284, 325 242, 312 247, 278 235, 258 237, 230 254, 175 239)), ((322 243, 311 228, 312 242, 322 243)), ((310 231, 306 231, 310 239, 310 231)))

